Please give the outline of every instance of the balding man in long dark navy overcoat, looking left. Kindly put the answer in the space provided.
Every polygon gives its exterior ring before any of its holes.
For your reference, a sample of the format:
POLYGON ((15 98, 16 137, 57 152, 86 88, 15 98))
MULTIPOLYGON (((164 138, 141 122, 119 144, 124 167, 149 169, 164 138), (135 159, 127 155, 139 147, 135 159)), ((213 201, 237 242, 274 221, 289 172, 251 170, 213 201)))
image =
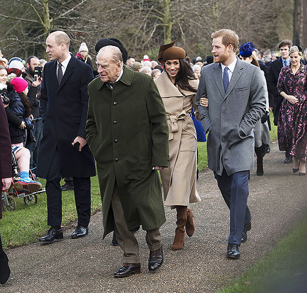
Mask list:
POLYGON ((88 111, 87 85, 93 70, 69 53, 69 37, 53 32, 46 40, 51 62, 43 72, 41 116, 44 135, 41 140, 37 176, 46 178, 48 205, 47 235, 42 243, 63 239, 61 229, 61 177, 72 176, 78 212, 78 225, 72 238, 88 233, 91 216, 91 176, 96 175, 94 157, 86 143, 85 123, 88 111))

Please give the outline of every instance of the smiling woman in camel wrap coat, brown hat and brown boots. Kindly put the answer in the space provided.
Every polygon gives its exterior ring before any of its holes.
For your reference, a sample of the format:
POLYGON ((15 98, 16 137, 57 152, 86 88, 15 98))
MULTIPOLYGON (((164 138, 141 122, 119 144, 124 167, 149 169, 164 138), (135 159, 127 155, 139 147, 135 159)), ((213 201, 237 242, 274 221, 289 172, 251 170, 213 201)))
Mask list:
POLYGON ((189 203, 201 201, 196 190, 197 137, 191 111, 195 106, 198 78, 185 60, 186 52, 174 47, 175 42, 160 46, 158 60, 164 71, 154 80, 166 110, 169 129, 168 168, 161 173, 164 206, 177 210, 177 228, 172 250, 184 246, 185 228, 188 236, 194 233, 193 214, 189 203))

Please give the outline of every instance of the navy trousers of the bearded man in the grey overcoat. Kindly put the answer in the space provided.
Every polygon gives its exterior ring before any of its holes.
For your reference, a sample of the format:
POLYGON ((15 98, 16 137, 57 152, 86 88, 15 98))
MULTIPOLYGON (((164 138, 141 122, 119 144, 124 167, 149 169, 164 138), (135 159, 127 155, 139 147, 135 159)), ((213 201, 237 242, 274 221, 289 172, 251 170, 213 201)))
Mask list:
POLYGON ((249 195, 249 171, 236 172, 230 176, 225 169, 221 176, 214 172, 217 185, 224 201, 230 209, 230 235, 228 243, 241 244, 244 225, 251 219, 251 212, 247 206, 249 195))

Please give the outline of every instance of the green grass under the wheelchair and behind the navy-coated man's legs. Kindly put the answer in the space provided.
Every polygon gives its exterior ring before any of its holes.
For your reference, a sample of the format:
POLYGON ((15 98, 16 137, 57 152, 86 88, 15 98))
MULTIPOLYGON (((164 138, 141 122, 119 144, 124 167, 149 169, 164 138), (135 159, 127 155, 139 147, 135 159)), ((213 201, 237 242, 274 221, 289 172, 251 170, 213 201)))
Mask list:
MULTIPOLYGON (((41 179, 43 186, 45 180, 41 179)), ((61 182, 63 184, 64 182, 61 182)), ((102 208, 98 178, 92 178, 92 213, 102 208)), ((0 220, 0 233, 3 248, 12 248, 33 243, 48 230, 47 195, 38 194, 38 203, 26 206, 23 199, 15 197, 17 208, 3 211, 0 220)), ((62 192, 62 226, 77 219, 75 198, 72 190, 62 192)))

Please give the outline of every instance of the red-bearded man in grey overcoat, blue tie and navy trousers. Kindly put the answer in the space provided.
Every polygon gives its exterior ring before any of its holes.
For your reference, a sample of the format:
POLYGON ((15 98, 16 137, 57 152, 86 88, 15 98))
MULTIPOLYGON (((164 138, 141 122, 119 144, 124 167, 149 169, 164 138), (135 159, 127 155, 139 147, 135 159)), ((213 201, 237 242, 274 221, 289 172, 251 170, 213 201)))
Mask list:
POLYGON ((239 258, 251 229, 247 206, 249 170, 254 168, 253 127, 265 113, 265 87, 258 67, 236 57, 237 34, 211 35, 214 63, 202 69, 196 104, 207 136, 208 167, 230 209, 227 256, 239 258), (202 106, 207 97, 208 107, 202 106))

